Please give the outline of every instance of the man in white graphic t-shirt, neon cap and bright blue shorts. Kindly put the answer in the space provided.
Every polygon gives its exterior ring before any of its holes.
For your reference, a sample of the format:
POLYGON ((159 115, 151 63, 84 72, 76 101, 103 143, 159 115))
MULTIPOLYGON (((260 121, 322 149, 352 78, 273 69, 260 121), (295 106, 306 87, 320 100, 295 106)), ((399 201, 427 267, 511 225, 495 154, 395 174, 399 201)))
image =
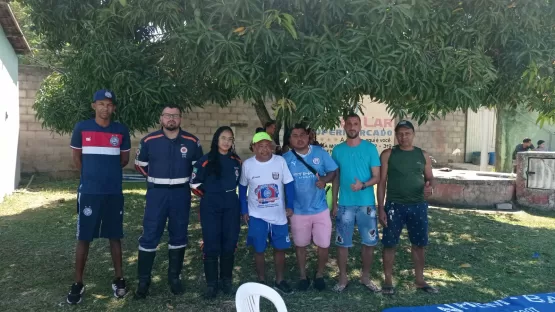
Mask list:
POLYGON ((258 281, 265 284, 264 251, 270 238, 276 266, 274 289, 283 294, 291 294, 293 290, 283 279, 283 272, 285 250, 291 246, 287 217, 293 215, 293 177, 285 159, 273 155, 273 141, 268 133, 255 134, 252 143, 255 156, 243 162, 239 180, 241 214, 249 225, 247 245, 254 248, 258 281), (284 198, 287 199, 287 206, 284 205, 284 198))

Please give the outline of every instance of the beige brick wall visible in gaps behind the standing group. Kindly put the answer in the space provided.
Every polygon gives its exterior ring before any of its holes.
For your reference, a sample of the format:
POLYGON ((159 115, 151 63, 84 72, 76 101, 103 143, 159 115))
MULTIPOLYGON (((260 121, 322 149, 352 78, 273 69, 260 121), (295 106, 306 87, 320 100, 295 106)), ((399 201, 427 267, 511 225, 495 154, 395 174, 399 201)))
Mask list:
MULTIPOLYGON (((41 123, 35 119, 35 111, 32 108, 37 90, 48 74, 48 70, 40 67, 20 66, 21 172, 64 174, 74 170, 69 136, 59 136, 43 129, 41 123)), ((249 157, 249 141, 254 129, 260 126, 256 112, 250 104, 233 101, 230 106, 224 108, 207 105, 202 109, 193 109, 182 119, 182 127, 199 137, 205 150, 208 150, 215 130, 223 125, 234 128, 237 152, 242 158, 249 157)), ((450 114, 445 119, 417 126, 415 144, 427 150, 439 164, 463 162, 465 129, 466 114, 450 114), (456 149, 461 151, 459 155, 453 155, 456 149)), ((132 137, 132 157, 143 136, 143 133, 137 133, 132 137)), ((132 168, 130 163, 128 169, 132 168)))

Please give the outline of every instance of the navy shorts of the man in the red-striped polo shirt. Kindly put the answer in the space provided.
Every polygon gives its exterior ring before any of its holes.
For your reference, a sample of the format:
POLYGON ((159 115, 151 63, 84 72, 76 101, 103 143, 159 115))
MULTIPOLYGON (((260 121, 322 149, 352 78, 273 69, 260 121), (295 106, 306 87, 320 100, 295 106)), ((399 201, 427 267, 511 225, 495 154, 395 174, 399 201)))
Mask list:
POLYGON ((123 194, 77 194, 77 239, 123 238, 123 194))

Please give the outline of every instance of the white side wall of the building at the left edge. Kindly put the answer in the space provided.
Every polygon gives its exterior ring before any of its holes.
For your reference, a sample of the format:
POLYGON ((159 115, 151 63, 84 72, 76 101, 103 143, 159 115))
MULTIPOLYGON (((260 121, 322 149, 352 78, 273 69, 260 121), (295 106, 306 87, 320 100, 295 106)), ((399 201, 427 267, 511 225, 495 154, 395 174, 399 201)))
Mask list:
POLYGON ((19 184, 18 59, 0 27, 0 202, 19 184))

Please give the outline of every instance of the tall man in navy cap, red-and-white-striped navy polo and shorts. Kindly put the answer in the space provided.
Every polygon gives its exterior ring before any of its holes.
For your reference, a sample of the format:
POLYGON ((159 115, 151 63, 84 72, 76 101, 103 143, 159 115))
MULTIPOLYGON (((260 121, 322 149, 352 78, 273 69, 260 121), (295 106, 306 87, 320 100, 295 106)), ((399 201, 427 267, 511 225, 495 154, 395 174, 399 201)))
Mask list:
POLYGON ((83 271, 94 238, 110 240, 115 279, 114 296, 127 293, 123 279, 121 238, 123 238, 122 168, 129 162, 131 142, 126 126, 112 121, 116 96, 110 90, 94 94, 95 118, 79 122, 73 130, 73 162, 81 171, 77 195, 77 248, 75 283, 67 296, 70 304, 80 303, 85 290, 83 271))

